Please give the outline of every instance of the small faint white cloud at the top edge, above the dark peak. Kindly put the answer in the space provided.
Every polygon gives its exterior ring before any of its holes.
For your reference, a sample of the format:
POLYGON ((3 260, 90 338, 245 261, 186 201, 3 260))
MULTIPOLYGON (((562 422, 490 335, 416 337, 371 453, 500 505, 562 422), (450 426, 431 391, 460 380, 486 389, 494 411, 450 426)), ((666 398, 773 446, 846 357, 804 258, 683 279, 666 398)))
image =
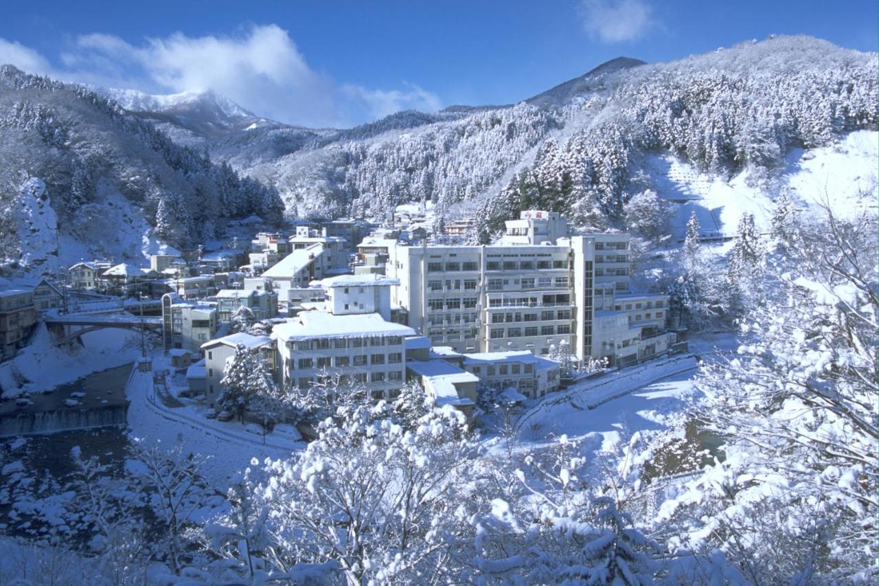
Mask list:
POLYGON ((643 0, 583 0, 581 7, 586 32, 604 42, 637 40, 657 24, 643 0))

